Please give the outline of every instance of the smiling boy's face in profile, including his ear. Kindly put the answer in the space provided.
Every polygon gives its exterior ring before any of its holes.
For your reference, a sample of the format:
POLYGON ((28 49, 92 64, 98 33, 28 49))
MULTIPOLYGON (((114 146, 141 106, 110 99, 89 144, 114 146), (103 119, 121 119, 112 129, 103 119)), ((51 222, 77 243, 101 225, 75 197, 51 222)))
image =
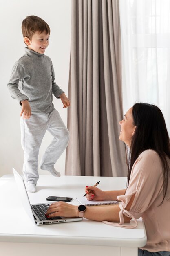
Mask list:
POLYGON ((34 52, 38 53, 44 53, 46 50, 46 47, 49 45, 49 34, 46 34, 46 32, 35 32, 33 34, 32 39, 29 40, 29 38, 25 37, 24 41, 26 45, 28 45, 28 48, 30 50, 33 50, 34 52))

